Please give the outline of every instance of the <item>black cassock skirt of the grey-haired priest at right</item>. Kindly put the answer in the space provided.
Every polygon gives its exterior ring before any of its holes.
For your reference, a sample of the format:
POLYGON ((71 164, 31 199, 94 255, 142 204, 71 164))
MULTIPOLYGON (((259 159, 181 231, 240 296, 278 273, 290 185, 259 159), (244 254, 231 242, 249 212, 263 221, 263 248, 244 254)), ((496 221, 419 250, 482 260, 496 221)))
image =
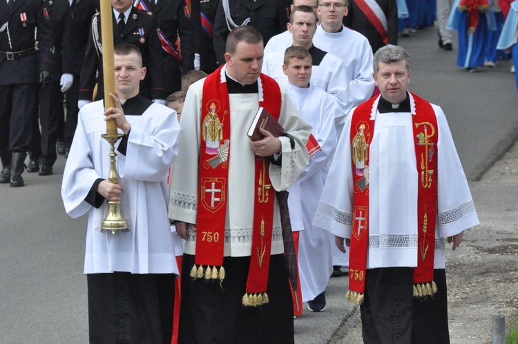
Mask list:
POLYGON ((412 267, 367 269, 361 323, 365 344, 447 344, 448 306, 444 269, 434 270, 437 293, 414 298, 412 267))

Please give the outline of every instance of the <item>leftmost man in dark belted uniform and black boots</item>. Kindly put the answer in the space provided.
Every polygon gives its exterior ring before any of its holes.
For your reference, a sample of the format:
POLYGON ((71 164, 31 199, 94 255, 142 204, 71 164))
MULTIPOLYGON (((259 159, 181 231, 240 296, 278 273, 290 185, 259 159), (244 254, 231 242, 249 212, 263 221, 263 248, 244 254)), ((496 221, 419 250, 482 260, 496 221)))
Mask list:
POLYGON ((38 78, 49 82, 51 66, 55 63, 52 27, 45 10, 43 0, 0 1, 0 183, 10 183, 11 187, 24 185, 21 173, 30 147, 38 78))

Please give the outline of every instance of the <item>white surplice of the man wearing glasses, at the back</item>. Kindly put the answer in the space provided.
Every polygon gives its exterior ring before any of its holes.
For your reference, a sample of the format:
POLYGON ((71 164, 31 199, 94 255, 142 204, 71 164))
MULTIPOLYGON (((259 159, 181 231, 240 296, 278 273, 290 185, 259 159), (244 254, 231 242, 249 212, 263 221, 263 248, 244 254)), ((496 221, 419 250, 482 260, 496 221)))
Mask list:
POLYGON ((340 32, 326 32, 321 25, 316 28, 313 44, 342 59, 347 69, 349 98, 358 106, 372 96, 372 48, 361 33, 342 26, 340 32))

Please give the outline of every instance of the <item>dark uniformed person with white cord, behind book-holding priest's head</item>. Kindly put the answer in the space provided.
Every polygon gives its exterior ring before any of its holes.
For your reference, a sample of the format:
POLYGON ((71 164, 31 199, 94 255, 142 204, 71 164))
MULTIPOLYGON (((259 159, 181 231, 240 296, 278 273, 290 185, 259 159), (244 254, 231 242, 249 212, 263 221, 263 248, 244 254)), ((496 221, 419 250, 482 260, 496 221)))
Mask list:
POLYGON ((278 0, 220 0, 214 19, 214 51, 220 66, 225 63, 225 44, 229 32, 238 26, 256 28, 265 40, 287 30, 288 15, 285 1, 278 0))

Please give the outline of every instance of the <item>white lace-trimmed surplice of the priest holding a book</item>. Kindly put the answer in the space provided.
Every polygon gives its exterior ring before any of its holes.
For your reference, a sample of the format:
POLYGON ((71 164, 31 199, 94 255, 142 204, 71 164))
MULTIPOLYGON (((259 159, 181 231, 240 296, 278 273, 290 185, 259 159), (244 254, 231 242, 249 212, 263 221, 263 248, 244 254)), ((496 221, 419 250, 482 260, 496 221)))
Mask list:
MULTIPOLYGON (((226 82, 225 68, 220 75, 221 82, 226 82)), ((189 87, 180 125, 180 150, 173 164, 171 179, 171 202, 169 218, 182 222, 196 223, 198 209, 198 166, 200 155, 200 121, 207 109, 202 109, 202 93, 205 79, 189 87), (202 111, 202 113, 200 113, 202 111)), ((260 79, 259 79, 260 81, 260 79)), ((230 94, 231 137, 229 153, 229 185, 227 192, 227 216, 225 220, 224 256, 250 256, 253 229, 254 192, 254 155, 248 128, 259 108, 262 99, 262 85, 259 93, 230 94)), ((270 164, 269 175, 273 189, 287 190, 296 182, 309 162, 305 142, 311 127, 298 114, 285 87, 280 86, 281 110, 279 123, 285 133, 294 137, 295 148, 292 150, 288 137, 280 137, 282 144, 282 166, 270 164)), ((271 190, 273 191, 273 190, 271 190)), ((271 254, 282 254, 282 231, 278 203, 274 206, 274 232, 271 242, 271 254)), ((198 227, 198 231, 202 231, 198 227)), ((195 254, 195 232, 187 232, 184 253, 195 254)))

